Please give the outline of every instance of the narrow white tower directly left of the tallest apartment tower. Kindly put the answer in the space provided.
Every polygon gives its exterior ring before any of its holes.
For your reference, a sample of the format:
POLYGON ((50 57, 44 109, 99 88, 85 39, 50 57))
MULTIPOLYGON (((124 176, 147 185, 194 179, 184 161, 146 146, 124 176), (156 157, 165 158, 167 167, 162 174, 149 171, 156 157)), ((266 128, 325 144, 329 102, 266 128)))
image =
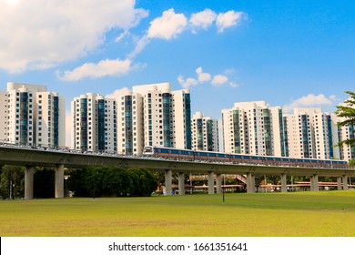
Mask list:
POLYGON ((117 152, 141 155, 143 148, 143 97, 127 91, 117 98, 117 152))

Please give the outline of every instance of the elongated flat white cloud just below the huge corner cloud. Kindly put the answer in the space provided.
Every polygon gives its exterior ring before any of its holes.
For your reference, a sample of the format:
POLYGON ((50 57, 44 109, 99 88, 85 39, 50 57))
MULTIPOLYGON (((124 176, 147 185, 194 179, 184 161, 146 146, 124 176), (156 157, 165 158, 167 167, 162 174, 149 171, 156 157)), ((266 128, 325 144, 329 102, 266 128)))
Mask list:
POLYGON ((86 63, 72 71, 65 71, 63 75, 59 74, 58 76, 63 80, 76 81, 85 77, 122 76, 127 74, 132 68, 136 68, 136 66, 132 67, 129 59, 106 59, 97 64, 86 63))

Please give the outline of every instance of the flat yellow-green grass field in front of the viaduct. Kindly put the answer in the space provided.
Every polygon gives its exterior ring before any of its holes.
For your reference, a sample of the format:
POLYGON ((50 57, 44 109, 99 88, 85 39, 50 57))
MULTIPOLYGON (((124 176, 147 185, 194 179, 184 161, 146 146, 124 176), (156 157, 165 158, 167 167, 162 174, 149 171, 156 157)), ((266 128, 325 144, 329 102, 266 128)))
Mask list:
POLYGON ((355 190, 0 201, 0 236, 354 237, 355 190))

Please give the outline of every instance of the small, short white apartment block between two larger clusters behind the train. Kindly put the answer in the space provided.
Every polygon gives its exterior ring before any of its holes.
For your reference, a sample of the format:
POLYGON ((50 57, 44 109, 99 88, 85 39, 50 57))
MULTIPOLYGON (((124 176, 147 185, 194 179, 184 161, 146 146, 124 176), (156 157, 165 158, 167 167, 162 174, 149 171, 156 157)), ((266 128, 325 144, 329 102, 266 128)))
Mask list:
POLYGON ((192 117, 192 149, 218 151, 218 120, 197 112, 192 117))

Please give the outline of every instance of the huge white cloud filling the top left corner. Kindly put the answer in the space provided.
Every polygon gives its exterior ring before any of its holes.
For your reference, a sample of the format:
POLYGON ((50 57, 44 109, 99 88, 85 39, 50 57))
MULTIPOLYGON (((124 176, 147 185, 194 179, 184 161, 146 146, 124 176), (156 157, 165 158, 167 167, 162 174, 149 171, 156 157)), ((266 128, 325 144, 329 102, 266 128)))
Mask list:
POLYGON ((0 68, 48 68, 92 52, 106 32, 137 26, 147 11, 134 0, 0 1, 0 68))

